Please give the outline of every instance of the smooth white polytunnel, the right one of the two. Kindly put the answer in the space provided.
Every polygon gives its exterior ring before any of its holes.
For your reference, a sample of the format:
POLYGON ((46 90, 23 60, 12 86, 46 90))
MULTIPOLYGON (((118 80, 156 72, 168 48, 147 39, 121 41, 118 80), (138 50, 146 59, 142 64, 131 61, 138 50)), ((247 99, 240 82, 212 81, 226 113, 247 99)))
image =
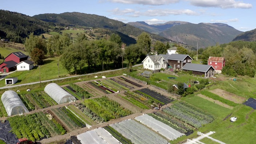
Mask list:
POLYGON ((44 91, 58 104, 71 103, 72 101, 76 100, 74 96, 65 91, 56 83, 46 85, 44 91))

